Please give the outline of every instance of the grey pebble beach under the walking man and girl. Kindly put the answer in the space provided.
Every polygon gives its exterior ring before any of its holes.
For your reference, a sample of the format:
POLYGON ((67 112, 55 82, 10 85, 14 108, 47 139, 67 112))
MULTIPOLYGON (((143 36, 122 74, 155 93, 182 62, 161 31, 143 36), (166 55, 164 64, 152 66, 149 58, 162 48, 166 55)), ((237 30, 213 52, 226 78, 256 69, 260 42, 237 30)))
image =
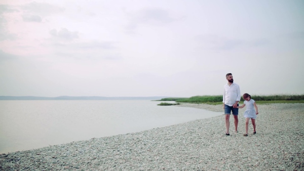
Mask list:
MULTIPOLYGON (((239 110, 156 129, 0 155, 0 170, 304 170, 304 103, 257 105, 256 132, 239 110)), ((223 112, 222 105, 180 104, 223 112)), ((185 113, 186 114, 186 113, 185 113)))

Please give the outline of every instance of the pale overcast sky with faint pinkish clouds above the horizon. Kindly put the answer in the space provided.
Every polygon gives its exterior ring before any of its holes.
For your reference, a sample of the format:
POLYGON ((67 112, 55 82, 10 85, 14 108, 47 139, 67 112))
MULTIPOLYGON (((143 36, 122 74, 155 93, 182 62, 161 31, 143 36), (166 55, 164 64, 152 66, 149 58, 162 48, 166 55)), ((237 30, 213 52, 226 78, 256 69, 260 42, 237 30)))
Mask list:
POLYGON ((0 96, 304 93, 304 1, 0 1, 0 96))

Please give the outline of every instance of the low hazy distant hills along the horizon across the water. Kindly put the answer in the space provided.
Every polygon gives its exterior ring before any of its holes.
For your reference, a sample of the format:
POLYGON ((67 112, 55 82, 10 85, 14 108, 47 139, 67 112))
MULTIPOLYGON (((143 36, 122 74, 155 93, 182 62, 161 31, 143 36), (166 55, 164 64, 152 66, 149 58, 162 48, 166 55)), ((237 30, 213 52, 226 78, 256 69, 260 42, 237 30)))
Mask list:
POLYGON ((160 100, 168 98, 164 96, 151 97, 101 97, 101 96, 59 96, 59 97, 36 97, 36 96, 0 96, 0 100, 160 100))

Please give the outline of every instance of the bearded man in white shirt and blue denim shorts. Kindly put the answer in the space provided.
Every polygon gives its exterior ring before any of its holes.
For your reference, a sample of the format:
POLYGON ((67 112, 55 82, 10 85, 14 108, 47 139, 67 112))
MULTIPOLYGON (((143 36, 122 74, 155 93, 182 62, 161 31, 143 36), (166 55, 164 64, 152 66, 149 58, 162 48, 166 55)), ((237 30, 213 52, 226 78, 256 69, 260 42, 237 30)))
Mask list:
POLYGON ((241 92, 238 84, 233 82, 232 73, 226 74, 226 79, 228 81, 224 86, 223 94, 223 108, 225 110, 225 123, 226 123, 226 136, 230 136, 229 127, 230 127, 230 114, 232 112, 235 121, 235 131, 238 133, 238 123, 239 123, 239 109, 235 108, 239 106, 239 101, 241 100, 241 92))

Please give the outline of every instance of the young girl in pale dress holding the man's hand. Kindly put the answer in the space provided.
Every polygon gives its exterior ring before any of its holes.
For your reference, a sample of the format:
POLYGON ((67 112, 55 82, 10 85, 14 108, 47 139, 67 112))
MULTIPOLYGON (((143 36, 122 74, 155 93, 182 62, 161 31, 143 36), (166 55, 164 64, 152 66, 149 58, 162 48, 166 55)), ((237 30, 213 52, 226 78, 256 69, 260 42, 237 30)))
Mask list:
POLYGON ((247 105, 247 108, 246 108, 246 111, 244 113, 244 117, 245 117, 245 120, 246 120, 246 134, 244 134, 244 136, 248 136, 248 124, 249 124, 249 119, 251 118, 251 123, 253 125, 253 134, 256 134, 256 131, 255 131, 255 118, 256 118, 256 115, 258 114, 258 111, 257 111, 257 106, 255 104, 255 101, 253 99, 251 99, 251 96, 248 94, 248 93, 245 93, 243 95, 243 99, 245 100, 244 101, 244 104, 242 106, 238 106, 237 108, 243 108, 245 105, 247 105), (255 110, 254 110, 255 108, 255 110))

